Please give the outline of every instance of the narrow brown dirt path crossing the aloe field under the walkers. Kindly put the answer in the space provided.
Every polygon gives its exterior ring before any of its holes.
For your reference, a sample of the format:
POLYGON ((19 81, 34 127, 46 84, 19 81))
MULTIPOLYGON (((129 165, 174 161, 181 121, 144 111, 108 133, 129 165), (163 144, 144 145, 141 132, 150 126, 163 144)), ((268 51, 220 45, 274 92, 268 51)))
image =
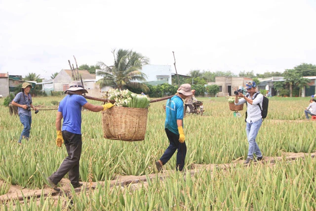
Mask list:
MULTIPOLYGON (((306 156, 311 156, 314 158, 316 156, 316 153, 284 153, 281 157, 264 157, 264 161, 260 163, 269 163, 270 165, 274 165, 276 161, 280 161, 283 159, 286 160, 296 160, 299 158, 303 158, 306 156)), ((212 170, 214 168, 220 168, 220 169, 230 169, 230 168, 235 168, 237 164, 242 164, 244 160, 235 160, 232 163, 229 164, 220 164, 220 165, 215 165, 215 164, 209 164, 209 165, 199 165, 195 164, 192 166, 192 169, 190 169, 190 174, 193 176, 196 172, 199 172, 200 170, 212 170)), ((255 164, 255 163, 254 163, 255 164)), ((253 164, 251 164, 253 165, 253 164)), ((162 173, 159 173, 160 178, 163 177, 168 177, 169 173, 172 172, 171 170, 164 170, 162 173)), ((149 178, 154 178, 156 177, 156 173, 149 174, 149 178)), ((0 184, 3 181, 0 181, 0 184)), ((104 182, 99 182, 101 185, 104 185, 104 182)), ((110 186, 121 186, 124 187, 125 185, 131 184, 132 188, 137 189, 140 185, 147 185, 147 176, 142 175, 142 176, 118 176, 115 180, 111 180, 110 186)), ((70 181, 68 179, 62 179, 60 181, 60 186, 62 191, 57 192, 53 189, 51 189, 48 186, 44 186, 43 189, 38 189, 38 190, 30 190, 30 189, 24 189, 21 188, 20 186, 16 185, 11 185, 9 191, 5 195, 0 196, 0 201, 1 203, 5 203, 7 201, 11 200, 16 200, 18 199, 20 203, 23 202, 23 196, 24 198, 31 199, 32 197, 36 197, 40 199, 40 196, 44 195, 44 197, 51 196, 54 199, 58 199, 58 197, 64 197, 65 195, 71 195, 71 186, 70 186, 70 181)), ((96 182, 88 183, 88 182, 83 182, 83 187, 82 188, 92 188, 95 189, 97 186, 96 182)), ((79 193, 81 191, 80 188, 75 189, 76 193, 79 193)), ((57 201, 57 200, 56 200, 57 201)), ((64 200, 66 203, 66 200, 64 200)), ((65 204, 66 205, 66 204, 65 204)))

